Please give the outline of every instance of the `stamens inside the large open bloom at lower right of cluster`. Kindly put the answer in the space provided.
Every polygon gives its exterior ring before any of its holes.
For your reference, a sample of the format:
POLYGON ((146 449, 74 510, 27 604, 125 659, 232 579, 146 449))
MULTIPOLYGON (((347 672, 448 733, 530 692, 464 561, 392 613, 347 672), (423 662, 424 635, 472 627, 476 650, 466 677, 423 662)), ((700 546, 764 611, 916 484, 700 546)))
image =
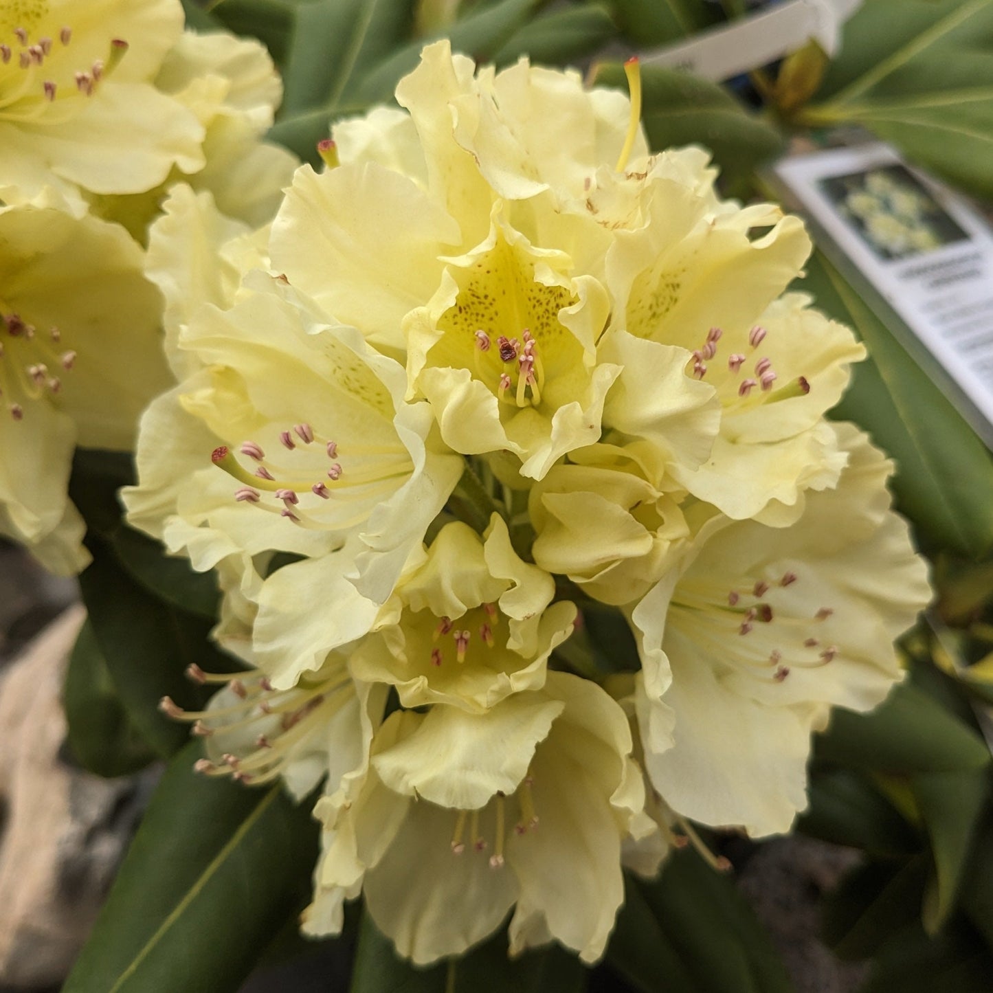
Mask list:
POLYGON ((717 657, 780 683, 791 669, 819 668, 839 652, 823 633, 833 608, 817 607, 799 616, 795 609, 770 603, 798 582, 792 571, 772 581, 743 578, 730 590, 713 582, 682 580, 673 595, 670 623, 717 657))

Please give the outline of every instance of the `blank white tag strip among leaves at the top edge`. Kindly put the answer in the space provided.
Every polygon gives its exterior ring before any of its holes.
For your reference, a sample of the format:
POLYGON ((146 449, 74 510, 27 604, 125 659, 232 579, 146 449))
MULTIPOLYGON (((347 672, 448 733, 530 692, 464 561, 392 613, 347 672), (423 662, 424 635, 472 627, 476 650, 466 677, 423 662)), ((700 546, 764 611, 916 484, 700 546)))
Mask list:
POLYGON ((838 51, 841 26, 863 0, 787 0, 770 10, 711 28, 686 42, 639 56, 642 66, 667 66, 720 81, 767 66, 812 38, 829 55, 838 51))

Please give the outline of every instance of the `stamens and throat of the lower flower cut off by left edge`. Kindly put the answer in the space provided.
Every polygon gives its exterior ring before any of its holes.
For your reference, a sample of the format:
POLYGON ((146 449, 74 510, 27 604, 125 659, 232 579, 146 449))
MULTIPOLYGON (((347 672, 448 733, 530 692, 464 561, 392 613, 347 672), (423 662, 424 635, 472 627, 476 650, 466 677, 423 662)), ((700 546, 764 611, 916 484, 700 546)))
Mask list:
POLYGON ((74 363, 58 328, 41 332, 0 301, 0 403, 14 420, 24 418, 27 401, 58 393, 74 363))

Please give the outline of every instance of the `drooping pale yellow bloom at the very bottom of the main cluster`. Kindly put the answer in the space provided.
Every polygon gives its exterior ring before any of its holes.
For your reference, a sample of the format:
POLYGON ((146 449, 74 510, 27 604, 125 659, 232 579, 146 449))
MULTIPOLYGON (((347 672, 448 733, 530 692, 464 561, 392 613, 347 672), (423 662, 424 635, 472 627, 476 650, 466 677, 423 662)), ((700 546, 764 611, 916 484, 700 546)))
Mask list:
POLYGON ((415 963, 465 951, 511 908, 511 953, 554 939, 595 961, 624 897, 622 842, 652 829, 631 751, 621 707, 559 672, 483 714, 391 714, 366 775, 318 803, 305 927, 320 932, 322 907, 361 887, 415 963))

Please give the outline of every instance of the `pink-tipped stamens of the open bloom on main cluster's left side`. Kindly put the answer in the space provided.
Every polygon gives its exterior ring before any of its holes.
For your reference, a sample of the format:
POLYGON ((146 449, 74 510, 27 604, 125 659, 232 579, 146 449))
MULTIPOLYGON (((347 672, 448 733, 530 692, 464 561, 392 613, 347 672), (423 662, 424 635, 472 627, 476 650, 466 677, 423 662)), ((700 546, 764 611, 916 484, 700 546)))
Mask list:
MULTIPOLYGON (((377 500, 397 487, 397 480, 413 471, 410 454, 399 443, 393 445, 355 445, 339 443, 320 436, 310 424, 295 424, 278 432, 281 452, 297 453, 300 458, 283 456, 282 460, 267 459, 261 445, 242 442, 240 454, 255 463, 255 469, 245 468, 226 446, 215 448, 213 464, 242 484, 234 499, 251 503, 263 510, 279 513, 303 526, 322 527, 301 506, 300 497, 312 503, 312 510, 322 501, 336 497, 377 500), (302 450, 302 451, 301 451, 302 450), (272 494, 269 502, 263 493, 272 494)), ((360 515, 355 523, 364 519, 360 515)), ((347 526, 336 520, 337 526, 347 526)))

